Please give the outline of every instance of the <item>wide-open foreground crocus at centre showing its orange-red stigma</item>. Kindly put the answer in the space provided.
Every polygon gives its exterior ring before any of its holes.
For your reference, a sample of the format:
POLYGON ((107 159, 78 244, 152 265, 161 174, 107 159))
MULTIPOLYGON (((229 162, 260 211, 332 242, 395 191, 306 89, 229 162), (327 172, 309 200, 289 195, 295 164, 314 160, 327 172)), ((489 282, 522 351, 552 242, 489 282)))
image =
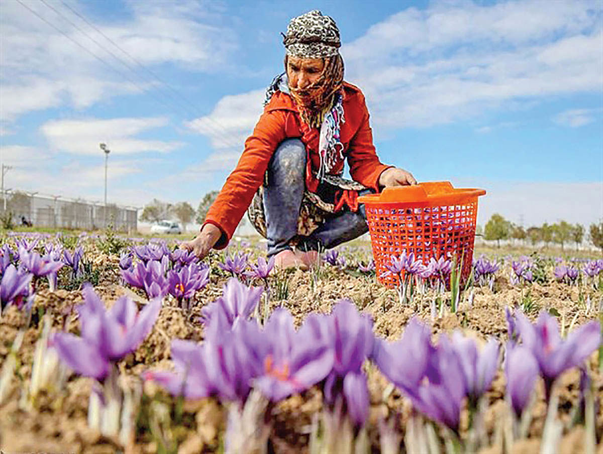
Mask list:
POLYGON ((254 380, 254 386, 273 402, 305 391, 333 368, 333 349, 317 338, 311 327, 302 326, 296 332, 286 309, 271 314, 262 337, 262 348, 256 347, 255 351, 263 359, 264 371, 254 380))

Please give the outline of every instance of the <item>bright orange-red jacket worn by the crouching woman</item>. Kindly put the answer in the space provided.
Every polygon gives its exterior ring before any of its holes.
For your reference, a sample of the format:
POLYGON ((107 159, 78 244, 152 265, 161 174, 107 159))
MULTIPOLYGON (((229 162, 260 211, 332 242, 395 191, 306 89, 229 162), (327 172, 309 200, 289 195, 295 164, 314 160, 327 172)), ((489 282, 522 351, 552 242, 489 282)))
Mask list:
MULTIPOLYGON (((390 166, 382 164, 375 153, 364 95, 358 87, 347 82, 344 82, 343 109, 346 121, 341 125, 339 137, 350 166, 350 175, 358 183, 379 192, 381 172, 390 166)), ((257 188, 264 182, 264 174, 274 150, 280 142, 291 137, 300 138, 306 145, 306 188, 316 191, 318 181, 314 175, 320 167, 318 129, 310 129, 301 122, 291 96, 277 91, 264 108, 253 134, 245 140, 245 150, 235 170, 226 179, 207 212, 204 224, 213 224, 222 232, 214 248, 226 247, 257 188)), ((332 174, 339 174, 343 166, 341 160, 332 169, 332 174)))

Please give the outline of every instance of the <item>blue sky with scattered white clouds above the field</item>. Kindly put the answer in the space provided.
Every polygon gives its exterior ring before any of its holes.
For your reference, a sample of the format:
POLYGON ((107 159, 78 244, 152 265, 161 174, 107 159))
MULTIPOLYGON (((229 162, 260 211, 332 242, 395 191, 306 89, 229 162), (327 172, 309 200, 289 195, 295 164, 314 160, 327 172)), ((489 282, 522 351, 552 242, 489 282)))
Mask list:
POLYGON ((341 30, 383 162, 486 189, 480 222, 603 216, 596 0, 5 0, 6 187, 100 201, 106 142, 110 202, 196 207, 221 188, 282 72, 280 32, 312 8, 341 30))

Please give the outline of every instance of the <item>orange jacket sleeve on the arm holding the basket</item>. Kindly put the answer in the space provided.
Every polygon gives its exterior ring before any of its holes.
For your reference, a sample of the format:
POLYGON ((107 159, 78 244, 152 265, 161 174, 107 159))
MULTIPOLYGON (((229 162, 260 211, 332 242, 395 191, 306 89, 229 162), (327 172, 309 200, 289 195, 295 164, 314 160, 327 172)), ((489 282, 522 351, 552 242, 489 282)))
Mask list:
POLYGON ((354 181, 379 192, 379 177, 385 169, 393 166, 382 164, 379 161, 373 145, 373 131, 368 124, 369 115, 364 96, 360 93, 358 96, 362 119, 358 131, 350 140, 347 163, 350 166, 350 175, 354 181))

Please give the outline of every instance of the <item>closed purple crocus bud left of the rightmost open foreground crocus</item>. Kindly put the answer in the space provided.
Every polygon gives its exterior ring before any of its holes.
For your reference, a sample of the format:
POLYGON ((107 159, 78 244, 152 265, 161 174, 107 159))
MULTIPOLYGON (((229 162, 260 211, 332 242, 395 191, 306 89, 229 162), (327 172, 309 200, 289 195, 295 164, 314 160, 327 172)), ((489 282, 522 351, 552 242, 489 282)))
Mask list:
POLYGON ((538 378, 538 362, 523 345, 507 342, 505 354, 505 377, 507 379, 507 395, 515 415, 520 418, 528 405, 538 378))

